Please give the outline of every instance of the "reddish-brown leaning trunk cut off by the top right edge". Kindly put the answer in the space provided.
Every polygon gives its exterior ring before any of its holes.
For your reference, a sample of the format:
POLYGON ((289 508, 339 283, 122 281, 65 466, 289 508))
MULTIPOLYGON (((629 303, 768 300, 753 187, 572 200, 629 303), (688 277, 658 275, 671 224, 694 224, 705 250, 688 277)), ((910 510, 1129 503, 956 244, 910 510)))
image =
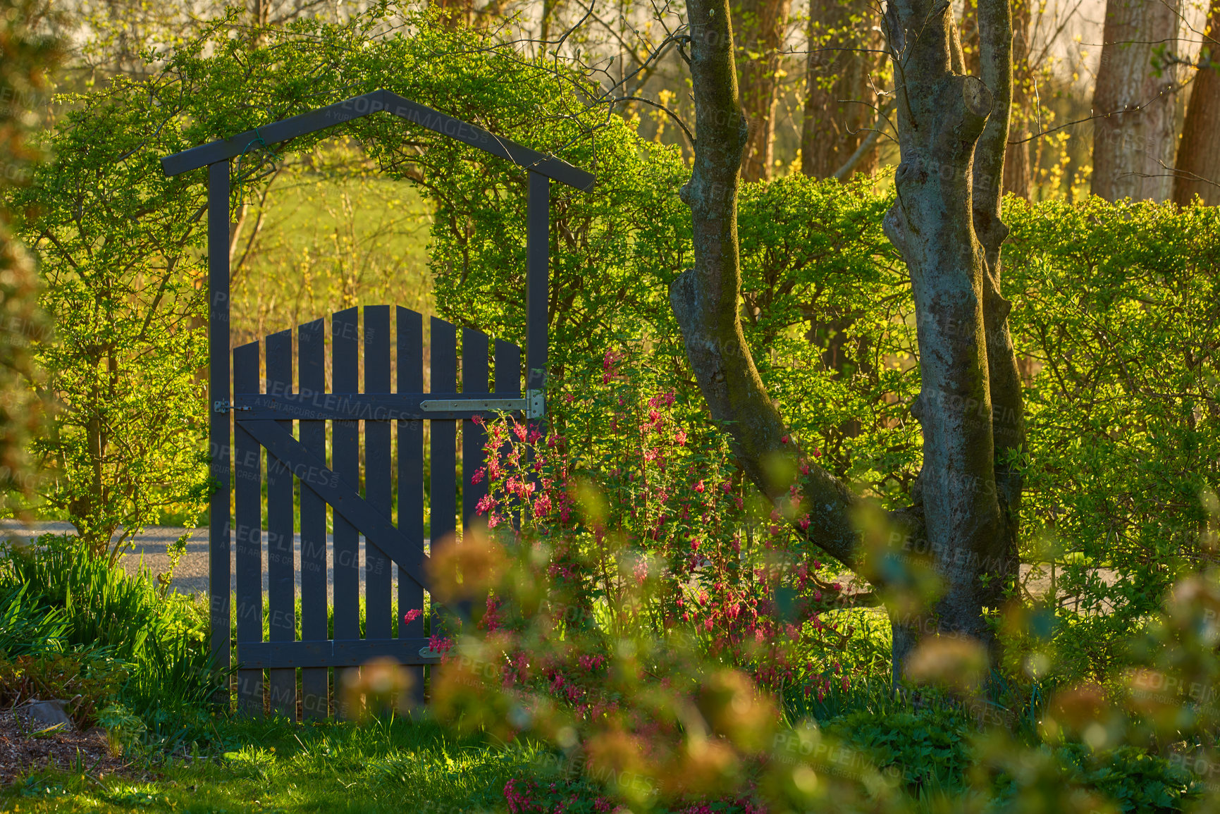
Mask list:
POLYGON ((1220 204, 1220 0, 1211 0, 1203 37, 1174 173, 1174 203, 1181 206, 1196 195, 1208 206, 1220 204))

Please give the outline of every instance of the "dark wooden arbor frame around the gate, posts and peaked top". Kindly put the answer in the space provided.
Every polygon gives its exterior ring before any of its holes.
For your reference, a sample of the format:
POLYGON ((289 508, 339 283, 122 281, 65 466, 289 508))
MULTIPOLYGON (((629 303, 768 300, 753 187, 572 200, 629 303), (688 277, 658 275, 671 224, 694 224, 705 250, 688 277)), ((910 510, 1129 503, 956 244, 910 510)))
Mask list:
MULTIPOLYGON (((207 400, 211 405, 209 422, 209 474, 216 484, 211 493, 209 506, 209 535, 207 535, 207 585, 211 598, 211 652, 216 663, 227 666, 231 663, 229 653, 229 552, 232 537, 232 450, 229 432, 232 422, 229 414, 235 410, 254 410, 249 420, 267 419, 266 423, 274 427, 278 422, 273 417, 292 417, 290 414, 277 415, 272 402, 283 404, 292 399, 292 394, 279 394, 278 399, 264 398, 264 404, 246 399, 246 404, 237 405, 231 392, 231 331, 229 331, 229 167, 234 157, 244 155, 253 144, 270 146, 289 139, 299 138, 317 131, 334 127, 356 118, 362 118, 372 113, 386 111, 399 118, 418 124, 426 129, 442 135, 448 135, 458 142, 489 153, 490 155, 505 159, 523 167, 528 175, 528 199, 526 206, 526 393, 525 398, 512 397, 514 393, 497 392, 494 398, 488 395, 464 395, 461 393, 434 393, 434 394, 336 394, 340 399, 353 403, 364 403, 376 399, 379 406, 394 411, 399 420, 444 420, 444 419, 471 419, 476 415, 490 416, 497 410, 520 410, 528 419, 540 419, 544 411, 543 392, 547 381, 547 327, 548 327, 548 297, 549 297, 549 254, 550 254, 550 182, 558 181, 575 189, 587 192, 593 188, 595 178, 593 175, 573 167, 572 165, 544 155, 529 148, 522 146, 512 140, 500 138, 488 131, 470 124, 461 120, 447 116, 442 112, 417 104, 390 90, 373 90, 359 96, 345 99, 312 110, 299 116, 284 118, 253 131, 245 131, 226 139, 218 139, 209 144, 195 146, 161 159, 161 168, 166 176, 177 176, 201 167, 207 167, 207 348, 209 348, 209 393, 207 400), (287 395, 287 399, 284 398, 287 395), (422 397, 427 397, 421 398, 422 397), (254 404, 251 406, 250 404, 254 404), (262 408, 262 409, 260 409, 262 408), (268 409, 270 408, 270 409, 268 409), (262 415, 267 412, 267 415, 262 415)), ((520 380, 518 380, 520 381, 520 380)), ((498 382, 499 384, 499 382, 498 382)), ((497 391, 500 391, 497 387, 497 391)), ((242 416, 248 420, 246 416, 242 416)), ((264 421, 257 421, 264 423, 264 421)), ((283 425, 279 425, 281 427, 283 425)), ((290 422, 288 426, 292 426, 290 422)), ((287 438, 281 442, 292 442, 290 430, 279 430, 287 438)), ((268 448, 268 455, 274 453, 268 448)), ((331 480, 333 475, 325 467, 326 477, 321 481, 331 480)), ((270 459, 268 459, 270 465, 270 459)), ((317 491, 315 478, 301 478, 301 487, 309 486, 317 491)), ((322 492, 325 492, 325 484, 322 492)), ((326 503, 339 508, 333 503, 334 493, 318 495, 326 503)), ((359 493, 356 503, 362 503, 359 493)), ((350 503, 350 502, 348 502, 350 503)), ((359 506, 357 506, 359 508, 359 506)), ((379 521, 381 519, 375 519, 379 521)), ((376 524, 375 524, 376 525, 376 524)), ((361 530, 364 531, 364 530, 361 530)), ((394 532, 394 528, 389 531, 394 532)), ((370 535, 366 533, 366 539, 370 535)), ((389 552, 386 552, 387 555, 389 552)), ((401 565, 400 565, 401 567, 401 565)), ((418 569, 403 569, 406 572, 418 569)), ((401 610, 401 609, 400 609, 401 610)), ((260 661, 262 659, 259 659, 260 661)), ((431 664, 436 657, 423 652, 420 657, 411 658, 415 664, 431 664)))

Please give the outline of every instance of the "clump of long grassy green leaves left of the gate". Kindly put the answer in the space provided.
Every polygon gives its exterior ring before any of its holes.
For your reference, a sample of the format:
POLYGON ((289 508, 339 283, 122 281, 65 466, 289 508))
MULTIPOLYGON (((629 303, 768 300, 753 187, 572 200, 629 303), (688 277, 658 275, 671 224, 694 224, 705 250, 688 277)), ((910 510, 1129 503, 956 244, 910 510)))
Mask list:
POLYGON ((71 537, 44 535, 4 550, 0 593, 20 599, 2 619, 39 621, 13 626, 13 653, 48 650, 49 642, 66 650, 7 663, 15 692, 82 694, 87 716, 122 703, 144 719, 150 744, 215 737, 211 716, 226 672, 214 669, 206 620, 192 599, 160 591, 146 569, 128 575, 71 537))

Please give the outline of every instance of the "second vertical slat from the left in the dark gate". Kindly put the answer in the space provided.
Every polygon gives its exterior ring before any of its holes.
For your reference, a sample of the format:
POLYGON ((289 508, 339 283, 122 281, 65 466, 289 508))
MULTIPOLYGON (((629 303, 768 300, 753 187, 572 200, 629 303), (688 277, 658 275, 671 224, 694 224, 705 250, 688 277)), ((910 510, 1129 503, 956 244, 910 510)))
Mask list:
MULTIPOLYGON (((281 331, 267 337, 267 393, 293 392, 293 332, 281 331)), ((292 421, 279 421, 293 431, 292 421)), ((293 474, 267 455, 267 611, 268 641, 292 642, 296 638, 295 586, 293 556, 293 474)), ((271 711, 296 719, 295 668, 268 670, 271 711)))

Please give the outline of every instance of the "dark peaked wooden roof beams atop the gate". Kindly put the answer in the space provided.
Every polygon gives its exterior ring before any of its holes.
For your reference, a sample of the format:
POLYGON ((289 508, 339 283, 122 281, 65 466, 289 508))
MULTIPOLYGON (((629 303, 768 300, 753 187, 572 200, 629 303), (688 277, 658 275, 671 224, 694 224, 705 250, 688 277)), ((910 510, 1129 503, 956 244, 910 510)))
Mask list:
POLYGON ((182 153, 167 155, 161 159, 161 168, 167 176, 177 176, 217 161, 237 157, 255 143, 264 145, 278 144, 379 111, 387 111, 399 118, 405 118, 420 127, 448 135, 464 144, 478 148, 484 153, 490 153, 494 156, 511 161, 520 167, 532 170, 569 187, 582 190, 593 188, 594 176, 584 170, 573 167, 562 159, 531 150, 511 139, 500 138, 484 131, 482 127, 476 127, 460 118, 447 116, 384 89, 353 96, 351 99, 345 99, 326 107, 318 107, 300 116, 284 118, 265 127, 256 127, 253 131, 245 131, 226 139, 217 139, 189 150, 183 150, 182 153))

